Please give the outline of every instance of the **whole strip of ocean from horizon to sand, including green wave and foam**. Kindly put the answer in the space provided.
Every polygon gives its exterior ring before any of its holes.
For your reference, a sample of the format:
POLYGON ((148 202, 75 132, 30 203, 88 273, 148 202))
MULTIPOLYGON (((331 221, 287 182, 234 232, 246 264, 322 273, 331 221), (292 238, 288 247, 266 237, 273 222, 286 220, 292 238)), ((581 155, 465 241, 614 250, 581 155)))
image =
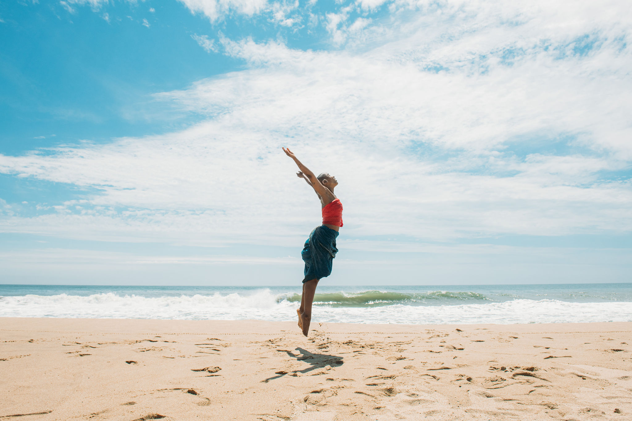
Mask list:
MULTIPOLYGON (((294 321, 300 288, 0 285, 0 317, 294 321)), ((312 320, 396 324, 632 321, 632 283, 319 285, 312 320)))

